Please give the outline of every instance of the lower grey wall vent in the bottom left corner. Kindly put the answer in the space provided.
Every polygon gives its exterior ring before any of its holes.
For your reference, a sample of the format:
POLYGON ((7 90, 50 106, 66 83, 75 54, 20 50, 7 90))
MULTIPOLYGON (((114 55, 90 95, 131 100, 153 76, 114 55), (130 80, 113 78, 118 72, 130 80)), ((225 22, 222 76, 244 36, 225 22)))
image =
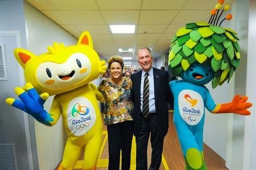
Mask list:
POLYGON ((0 170, 16 170, 17 163, 15 157, 14 144, 0 143, 0 170))

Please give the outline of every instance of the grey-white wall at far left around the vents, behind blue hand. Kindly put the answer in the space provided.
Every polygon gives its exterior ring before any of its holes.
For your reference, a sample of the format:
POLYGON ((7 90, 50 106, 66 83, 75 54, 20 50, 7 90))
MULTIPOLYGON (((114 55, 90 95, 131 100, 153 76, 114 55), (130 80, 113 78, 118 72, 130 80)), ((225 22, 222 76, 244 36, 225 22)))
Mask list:
POLYGON ((23 1, 0 1, 0 16, 0 42, 5 46, 8 77, 8 80, 0 81, 0 144, 13 144, 18 169, 30 169, 33 168, 33 162, 31 145, 27 140, 30 138, 28 115, 5 103, 6 98, 17 99, 13 90, 24 82, 13 56, 14 48, 26 47, 23 1))

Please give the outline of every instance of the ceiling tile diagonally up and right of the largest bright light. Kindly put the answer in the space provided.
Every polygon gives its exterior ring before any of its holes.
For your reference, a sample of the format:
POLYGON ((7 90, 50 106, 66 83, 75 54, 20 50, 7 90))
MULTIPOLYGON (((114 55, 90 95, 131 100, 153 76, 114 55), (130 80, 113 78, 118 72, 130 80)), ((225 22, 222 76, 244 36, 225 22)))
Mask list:
POLYGON ((140 24, 169 24, 178 11, 141 11, 140 24))

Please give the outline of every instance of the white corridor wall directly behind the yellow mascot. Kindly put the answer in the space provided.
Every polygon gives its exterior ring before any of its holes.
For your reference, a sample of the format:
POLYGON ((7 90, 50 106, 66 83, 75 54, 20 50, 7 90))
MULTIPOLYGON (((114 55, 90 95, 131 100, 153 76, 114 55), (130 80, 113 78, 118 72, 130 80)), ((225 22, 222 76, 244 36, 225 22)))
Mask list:
MULTIPOLYGON (((65 45, 76 44, 77 39, 56 25, 55 22, 25 3, 27 49, 38 55, 47 52, 47 46, 53 42, 63 42, 65 45)), ((45 104, 50 109, 53 97, 45 104)), ((35 121, 36 144, 39 168, 54 169, 62 159, 66 143, 66 132, 62 118, 53 127, 47 127, 35 121)))

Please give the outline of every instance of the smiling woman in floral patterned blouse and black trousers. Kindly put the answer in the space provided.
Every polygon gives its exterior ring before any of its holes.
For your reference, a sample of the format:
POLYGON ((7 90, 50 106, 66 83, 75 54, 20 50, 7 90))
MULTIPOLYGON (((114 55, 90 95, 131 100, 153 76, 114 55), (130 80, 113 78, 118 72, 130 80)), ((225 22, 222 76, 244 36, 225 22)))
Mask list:
POLYGON ((132 81, 122 77, 123 60, 112 56, 109 61, 111 78, 103 79, 98 87, 105 97, 104 123, 109 136, 109 169, 119 170, 120 150, 122 151, 122 170, 129 170, 134 123, 131 100, 132 81))

